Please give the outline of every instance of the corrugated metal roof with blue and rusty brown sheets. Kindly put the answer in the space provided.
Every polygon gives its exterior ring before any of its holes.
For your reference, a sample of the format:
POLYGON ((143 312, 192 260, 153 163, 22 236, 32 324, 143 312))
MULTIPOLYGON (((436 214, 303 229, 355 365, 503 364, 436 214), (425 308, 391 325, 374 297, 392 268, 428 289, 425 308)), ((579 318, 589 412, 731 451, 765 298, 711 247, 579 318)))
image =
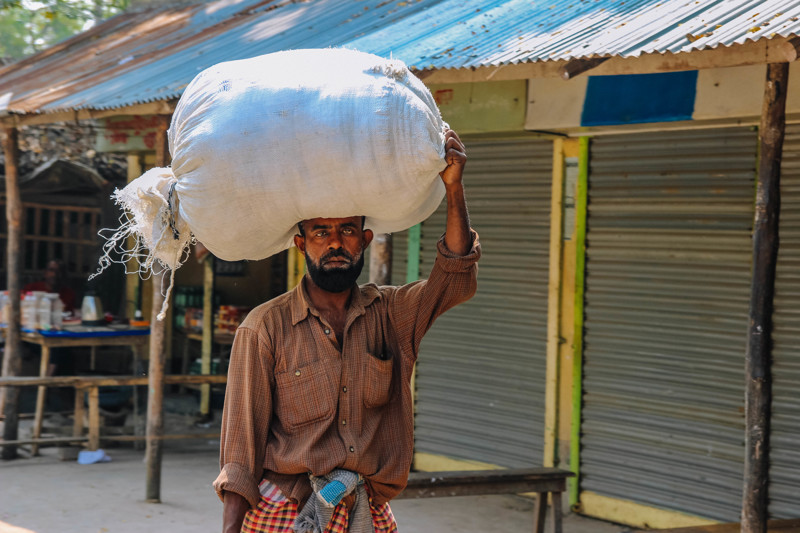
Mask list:
POLYGON ((685 53, 797 35, 799 18, 800 0, 217 0, 122 14, 6 66, 0 102, 34 113, 170 100, 210 65, 296 48, 417 69, 685 53))

